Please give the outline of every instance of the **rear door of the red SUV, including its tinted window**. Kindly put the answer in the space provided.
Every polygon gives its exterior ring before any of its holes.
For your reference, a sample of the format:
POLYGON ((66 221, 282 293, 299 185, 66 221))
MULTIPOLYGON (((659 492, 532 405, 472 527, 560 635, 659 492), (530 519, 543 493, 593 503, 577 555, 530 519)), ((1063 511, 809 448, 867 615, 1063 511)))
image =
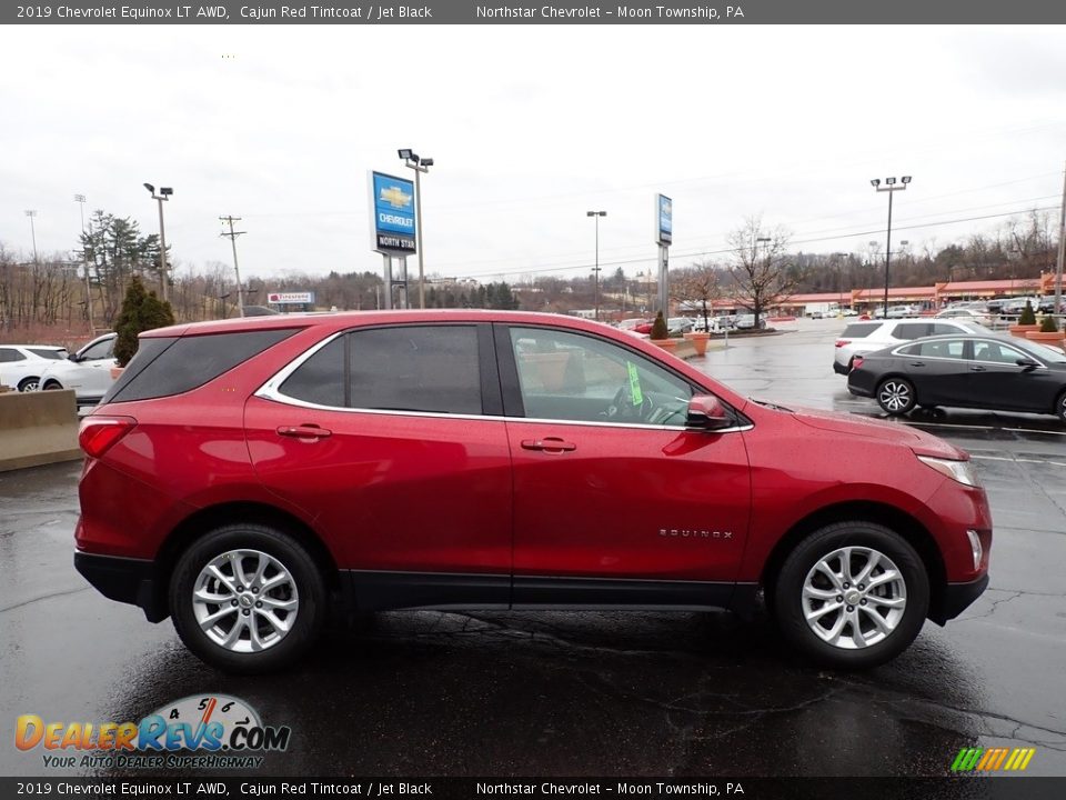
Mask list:
POLYGON ((350 570, 361 608, 510 601, 511 459, 491 329, 355 329, 245 407, 255 470, 350 570))

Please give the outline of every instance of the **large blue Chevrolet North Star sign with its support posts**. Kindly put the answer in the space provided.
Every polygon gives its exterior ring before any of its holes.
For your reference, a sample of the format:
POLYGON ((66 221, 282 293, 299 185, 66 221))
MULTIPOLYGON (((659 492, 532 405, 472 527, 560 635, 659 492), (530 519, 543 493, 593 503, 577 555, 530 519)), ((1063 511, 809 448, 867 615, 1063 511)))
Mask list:
POLYGON ((408 256, 416 252, 414 183, 403 178, 371 171, 371 250, 384 257, 384 307, 393 307, 393 291, 400 289, 399 308, 408 308, 408 256), (392 259, 400 259, 400 277, 393 279, 392 259))

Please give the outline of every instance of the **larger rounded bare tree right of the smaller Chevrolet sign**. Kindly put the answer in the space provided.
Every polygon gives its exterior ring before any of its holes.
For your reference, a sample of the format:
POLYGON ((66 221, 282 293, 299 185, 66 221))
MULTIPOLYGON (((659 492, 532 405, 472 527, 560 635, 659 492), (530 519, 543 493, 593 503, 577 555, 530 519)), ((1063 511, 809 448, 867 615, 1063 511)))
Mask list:
POLYGON ((726 241, 732 250, 730 274, 737 299, 755 314, 758 329, 763 311, 787 299, 798 283, 797 268, 786 253, 788 232, 781 226, 764 228, 762 217, 748 217, 726 241))

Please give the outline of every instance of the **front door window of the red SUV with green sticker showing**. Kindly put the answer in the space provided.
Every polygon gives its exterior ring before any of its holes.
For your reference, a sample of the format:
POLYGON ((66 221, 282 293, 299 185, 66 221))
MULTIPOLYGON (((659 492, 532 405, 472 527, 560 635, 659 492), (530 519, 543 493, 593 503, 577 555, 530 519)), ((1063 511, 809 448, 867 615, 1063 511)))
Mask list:
POLYGON ((541 328, 511 328, 511 344, 527 418, 685 424, 692 387, 626 348, 541 328))

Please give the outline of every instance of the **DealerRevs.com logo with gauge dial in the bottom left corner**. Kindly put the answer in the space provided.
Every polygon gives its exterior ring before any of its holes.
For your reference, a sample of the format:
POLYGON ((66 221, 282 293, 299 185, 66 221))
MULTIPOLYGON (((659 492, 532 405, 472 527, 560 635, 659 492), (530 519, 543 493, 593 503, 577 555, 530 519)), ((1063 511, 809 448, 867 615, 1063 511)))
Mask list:
POLYGON ((49 768, 258 768, 260 753, 283 751, 292 729, 264 726, 259 713, 229 694, 193 694, 140 722, 16 720, 14 746, 41 749, 49 768))

